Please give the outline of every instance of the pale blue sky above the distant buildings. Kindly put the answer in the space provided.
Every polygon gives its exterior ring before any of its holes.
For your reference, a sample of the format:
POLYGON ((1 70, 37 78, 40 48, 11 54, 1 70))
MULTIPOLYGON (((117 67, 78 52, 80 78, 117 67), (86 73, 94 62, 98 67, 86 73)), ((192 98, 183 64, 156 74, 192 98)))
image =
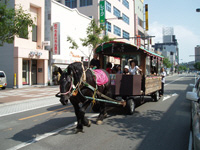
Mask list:
POLYGON ((162 42, 162 28, 173 27, 179 44, 179 61, 194 61, 194 49, 200 45, 200 0, 144 0, 149 10, 149 34, 162 42))

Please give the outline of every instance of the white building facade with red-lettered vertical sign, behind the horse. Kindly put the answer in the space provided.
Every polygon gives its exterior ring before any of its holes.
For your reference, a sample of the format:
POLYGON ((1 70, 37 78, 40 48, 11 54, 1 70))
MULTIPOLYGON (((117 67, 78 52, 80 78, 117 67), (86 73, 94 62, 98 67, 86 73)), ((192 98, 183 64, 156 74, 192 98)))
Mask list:
POLYGON ((91 48, 83 47, 81 38, 86 38, 86 29, 91 18, 81 14, 77 9, 71 9, 54 0, 46 0, 45 40, 51 41, 49 79, 57 84, 58 67, 65 69, 69 64, 77 61, 88 62, 91 48), (51 37, 51 38, 50 38, 51 37), (78 49, 70 48, 72 44, 67 38, 73 39, 78 49))

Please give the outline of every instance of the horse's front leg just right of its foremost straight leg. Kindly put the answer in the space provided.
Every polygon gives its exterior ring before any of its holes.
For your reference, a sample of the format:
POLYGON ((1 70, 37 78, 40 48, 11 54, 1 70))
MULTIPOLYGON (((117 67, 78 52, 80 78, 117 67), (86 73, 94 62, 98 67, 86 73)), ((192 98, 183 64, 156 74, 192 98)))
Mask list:
POLYGON ((82 112, 82 115, 83 115, 81 117, 81 122, 84 126, 87 126, 87 127, 91 126, 91 121, 85 117, 85 110, 87 109, 87 107, 89 106, 90 103, 91 103, 91 101, 89 101, 89 100, 85 101, 80 109, 80 111, 82 112))

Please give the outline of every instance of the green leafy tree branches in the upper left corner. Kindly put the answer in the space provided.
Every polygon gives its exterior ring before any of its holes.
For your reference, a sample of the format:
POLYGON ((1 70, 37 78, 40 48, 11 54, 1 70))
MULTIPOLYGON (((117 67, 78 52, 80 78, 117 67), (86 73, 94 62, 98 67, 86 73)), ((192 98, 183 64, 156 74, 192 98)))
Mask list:
POLYGON ((28 37, 28 27, 31 26, 31 14, 24 11, 21 6, 14 9, 0 3, 0 46, 4 43, 13 43, 14 36, 28 37))

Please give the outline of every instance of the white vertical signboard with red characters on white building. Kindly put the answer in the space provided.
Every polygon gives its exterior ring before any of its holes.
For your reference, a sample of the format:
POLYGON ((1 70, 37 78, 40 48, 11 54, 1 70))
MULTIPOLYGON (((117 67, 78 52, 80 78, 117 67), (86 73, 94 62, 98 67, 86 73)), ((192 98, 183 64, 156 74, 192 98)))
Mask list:
POLYGON ((53 23, 53 55, 60 54, 60 23, 53 23))

